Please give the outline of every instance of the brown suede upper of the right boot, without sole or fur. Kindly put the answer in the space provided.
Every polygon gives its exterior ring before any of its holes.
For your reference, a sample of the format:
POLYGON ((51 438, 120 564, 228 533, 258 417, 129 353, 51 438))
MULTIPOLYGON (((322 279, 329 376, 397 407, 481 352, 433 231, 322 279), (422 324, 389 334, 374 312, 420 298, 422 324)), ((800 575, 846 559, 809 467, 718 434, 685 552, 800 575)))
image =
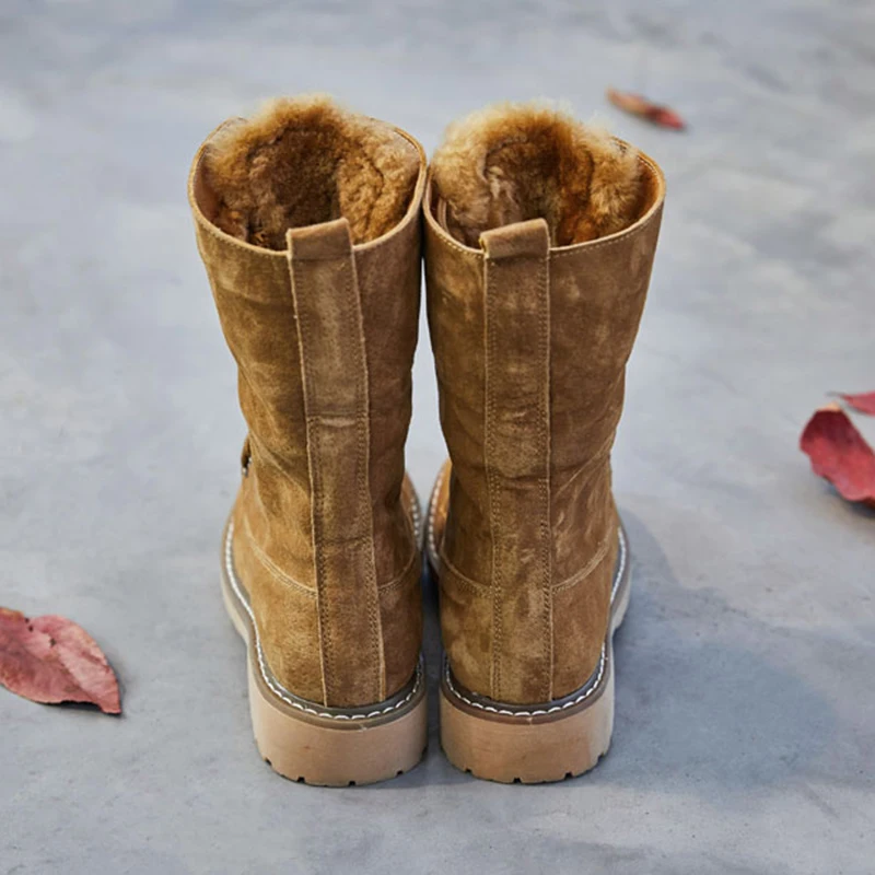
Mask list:
POLYGON ((498 701, 580 688, 607 632, 610 450, 664 198, 653 161, 618 148, 637 163, 635 213, 568 246, 551 246, 556 229, 537 218, 481 228, 476 249, 469 231, 454 233, 451 218, 470 211, 444 199, 445 167, 433 165, 425 192, 429 326, 452 460, 432 508, 441 627, 456 679, 498 701))

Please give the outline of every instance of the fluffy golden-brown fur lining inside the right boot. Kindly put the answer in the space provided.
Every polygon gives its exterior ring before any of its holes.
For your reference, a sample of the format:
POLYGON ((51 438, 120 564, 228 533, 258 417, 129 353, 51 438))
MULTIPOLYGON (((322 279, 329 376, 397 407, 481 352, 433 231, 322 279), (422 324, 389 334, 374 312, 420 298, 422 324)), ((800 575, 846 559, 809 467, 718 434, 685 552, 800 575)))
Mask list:
POLYGON ((468 246, 537 218, 553 246, 596 240, 632 224, 646 199, 634 149, 541 104, 499 104, 451 125, 432 174, 446 230, 468 246))

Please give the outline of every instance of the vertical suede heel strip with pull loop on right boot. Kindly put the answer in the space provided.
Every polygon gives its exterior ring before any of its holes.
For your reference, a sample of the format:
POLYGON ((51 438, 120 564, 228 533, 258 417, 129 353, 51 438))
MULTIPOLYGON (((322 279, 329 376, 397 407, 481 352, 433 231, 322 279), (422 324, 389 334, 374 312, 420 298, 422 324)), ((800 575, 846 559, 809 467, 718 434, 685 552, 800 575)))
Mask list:
POLYGON ((486 468, 492 534, 491 695, 552 698, 550 237, 542 219, 480 237, 486 468))

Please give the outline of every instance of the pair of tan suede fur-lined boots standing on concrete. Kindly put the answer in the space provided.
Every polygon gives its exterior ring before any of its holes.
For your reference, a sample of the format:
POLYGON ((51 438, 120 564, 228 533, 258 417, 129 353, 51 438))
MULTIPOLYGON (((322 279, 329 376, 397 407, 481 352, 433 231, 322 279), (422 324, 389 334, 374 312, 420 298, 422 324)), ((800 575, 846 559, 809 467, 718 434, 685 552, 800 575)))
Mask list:
POLYGON ((201 147, 189 199, 248 425, 223 593, 281 774, 421 758, 423 538, 451 761, 529 783, 607 750, 629 598, 610 448, 663 197, 644 154, 530 105, 452 126, 430 167, 323 97, 201 147), (404 463, 422 240, 451 459, 424 533, 404 463))

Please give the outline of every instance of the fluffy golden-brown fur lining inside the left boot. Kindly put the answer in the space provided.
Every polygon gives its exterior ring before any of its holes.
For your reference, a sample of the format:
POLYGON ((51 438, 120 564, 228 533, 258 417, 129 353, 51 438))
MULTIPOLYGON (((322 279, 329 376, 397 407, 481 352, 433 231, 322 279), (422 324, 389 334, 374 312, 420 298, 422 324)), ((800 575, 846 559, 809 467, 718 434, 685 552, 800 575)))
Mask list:
POLYGON ((268 103, 222 126, 201 162, 215 207, 208 217, 234 237, 285 248, 289 228, 346 217, 353 243, 404 218, 420 171, 417 150, 382 121, 313 95, 268 103))

